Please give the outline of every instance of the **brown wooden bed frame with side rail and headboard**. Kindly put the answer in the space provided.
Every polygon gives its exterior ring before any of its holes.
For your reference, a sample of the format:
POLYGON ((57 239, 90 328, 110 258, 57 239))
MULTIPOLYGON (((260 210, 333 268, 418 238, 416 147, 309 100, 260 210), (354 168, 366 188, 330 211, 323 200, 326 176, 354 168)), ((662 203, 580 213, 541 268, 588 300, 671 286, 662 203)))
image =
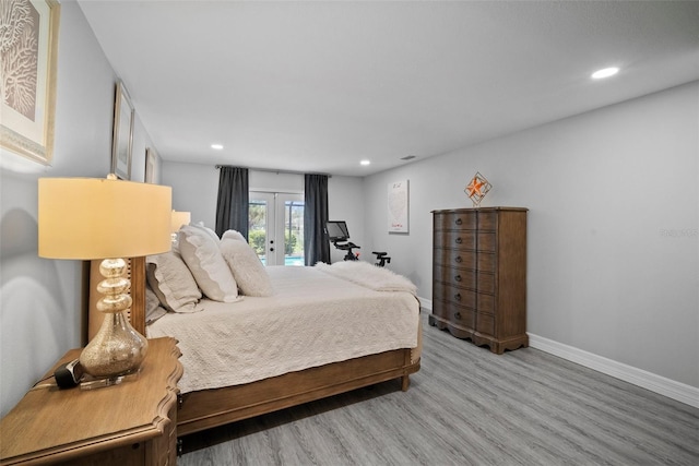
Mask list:
MULTIPOLYGON (((129 262, 128 273, 133 298, 130 320, 133 327, 145 335, 145 259, 135 258, 129 262)), ((102 323, 102 314, 95 306, 99 299, 95 287, 100 279, 99 261, 93 261, 90 278, 88 338, 92 338, 102 323)), ((401 390, 406 391, 410 386, 410 374, 419 370, 422 327, 418 332, 418 346, 413 349, 396 349, 289 372, 244 385, 180 395, 177 435, 186 435, 392 379, 400 379, 401 390)))

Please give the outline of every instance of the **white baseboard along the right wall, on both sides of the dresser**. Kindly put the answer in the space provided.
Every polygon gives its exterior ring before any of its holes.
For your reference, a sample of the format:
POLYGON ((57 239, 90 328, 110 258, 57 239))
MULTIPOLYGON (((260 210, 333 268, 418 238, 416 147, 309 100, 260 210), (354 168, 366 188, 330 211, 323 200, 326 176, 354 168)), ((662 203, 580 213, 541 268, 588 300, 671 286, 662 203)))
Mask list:
MULTIPOLYGON (((431 300, 419 299, 420 306, 427 311, 431 311, 431 300)), ((584 351, 573 346, 564 345, 553 339, 529 333, 529 345, 532 348, 548 353, 580 366, 605 373, 625 382, 632 383, 651 392, 667 396, 680 403, 685 403, 695 408, 699 408, 699 389, 676 382, 672 379, 644 371, 615 360, 584 351)))

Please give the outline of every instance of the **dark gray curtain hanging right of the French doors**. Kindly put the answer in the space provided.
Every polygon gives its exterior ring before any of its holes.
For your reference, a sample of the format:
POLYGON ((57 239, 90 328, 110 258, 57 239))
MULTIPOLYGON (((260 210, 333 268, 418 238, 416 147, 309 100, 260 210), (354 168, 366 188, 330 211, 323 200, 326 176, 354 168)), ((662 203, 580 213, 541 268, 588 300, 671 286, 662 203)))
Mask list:
POLYGON ((330 263, 328 223, 328 176, 305 175, 304 254, 306 265, 330 263))

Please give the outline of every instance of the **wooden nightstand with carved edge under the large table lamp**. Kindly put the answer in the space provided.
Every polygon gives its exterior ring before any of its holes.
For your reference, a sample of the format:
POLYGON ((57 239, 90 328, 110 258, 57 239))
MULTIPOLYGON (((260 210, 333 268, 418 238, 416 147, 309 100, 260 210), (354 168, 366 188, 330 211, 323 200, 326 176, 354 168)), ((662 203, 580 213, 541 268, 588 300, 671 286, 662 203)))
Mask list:
POLYGON ((175 465, 179 357, 174 338, 150 339, 135 381, 31 390, 0 421, 0 464, 175 465))

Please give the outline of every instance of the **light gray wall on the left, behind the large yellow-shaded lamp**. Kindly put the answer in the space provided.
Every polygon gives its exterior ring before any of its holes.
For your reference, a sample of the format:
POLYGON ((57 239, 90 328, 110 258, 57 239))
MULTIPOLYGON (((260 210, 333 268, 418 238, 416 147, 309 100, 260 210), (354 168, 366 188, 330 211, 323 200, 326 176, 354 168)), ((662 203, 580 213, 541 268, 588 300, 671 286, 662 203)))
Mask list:
MULTIPOLYGON (((51 166, 0 154, 0 414, 68 349, 81 345, 82 263, 37 255, 37 179, 105 177, 110 169, 117 75, 82 10, 61 2, 51 166)), ((138 98, 131 96, 138 112, 138 98)), ((138 115, 138 113, 137 113, 138 115)), ((132 179, 151 143, 137 119, 132 179)))

